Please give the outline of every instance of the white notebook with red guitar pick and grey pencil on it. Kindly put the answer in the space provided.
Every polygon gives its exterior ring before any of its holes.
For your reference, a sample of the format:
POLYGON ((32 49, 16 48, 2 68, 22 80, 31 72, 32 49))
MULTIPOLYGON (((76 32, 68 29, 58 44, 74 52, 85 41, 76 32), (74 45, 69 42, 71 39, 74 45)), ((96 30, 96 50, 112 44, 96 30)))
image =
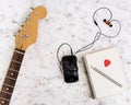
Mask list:
POLYGON ((84 60, 95 98, 127 90, 121 60, 116 47, 87 54, 84 60))

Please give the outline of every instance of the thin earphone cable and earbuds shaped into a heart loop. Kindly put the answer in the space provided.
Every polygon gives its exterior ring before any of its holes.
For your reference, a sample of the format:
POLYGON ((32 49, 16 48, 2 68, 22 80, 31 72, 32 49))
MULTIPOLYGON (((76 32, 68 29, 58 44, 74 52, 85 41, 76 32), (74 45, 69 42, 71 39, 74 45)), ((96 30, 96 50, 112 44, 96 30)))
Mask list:
POLYGON ((120 34, 121 23, 120 23, 118 20, 112 20, 112 13, 111 13, 111 11, 110 11, 108 8, 103 7, 103 8, 97 9, 97 10, 93 13, 93 21, 94 21, 95 25, 98 27, 99 31, 96 33, 96 35, 95 35, 95 37, 94 37, 94 39, 93 39, 92 43, 90 43, 88 45, 86 45, 86 46, 80 48, 79 50, 76 50, 76 51, 74 52, 74 55, 76 55, 76 54, 79 54, 79 52, 81 52, 81 51, 84 51, 84 50, 86 50, 86 49, 92 48, 93 45, 100 38, 100 36, 105 36, 105 37, 107 37, 107 38, 115 38, 115 37, 117 37, 117 36, 120 34), (108 19, 103 19, 103 21, 105 22, 106 25, 109 26, 109 28, 112 28, 112 24, 111 24, 112 22, 118 23, 118 25, 119 25, 118 28, 119 28, 119 30, 118 30, 117 34, 115 34, 115 35, 112 35, 112 36, 108 35, 108 34, 105 34, 104 31, 102 30, 102 27, 99 26, 99 24, 98 24, 98 22, 96 21, 95 16, 96 16, 97 12, 99 12, 99 11, 102 11, 102 10, 106 10, 106 11, 109 13, 108 19))

